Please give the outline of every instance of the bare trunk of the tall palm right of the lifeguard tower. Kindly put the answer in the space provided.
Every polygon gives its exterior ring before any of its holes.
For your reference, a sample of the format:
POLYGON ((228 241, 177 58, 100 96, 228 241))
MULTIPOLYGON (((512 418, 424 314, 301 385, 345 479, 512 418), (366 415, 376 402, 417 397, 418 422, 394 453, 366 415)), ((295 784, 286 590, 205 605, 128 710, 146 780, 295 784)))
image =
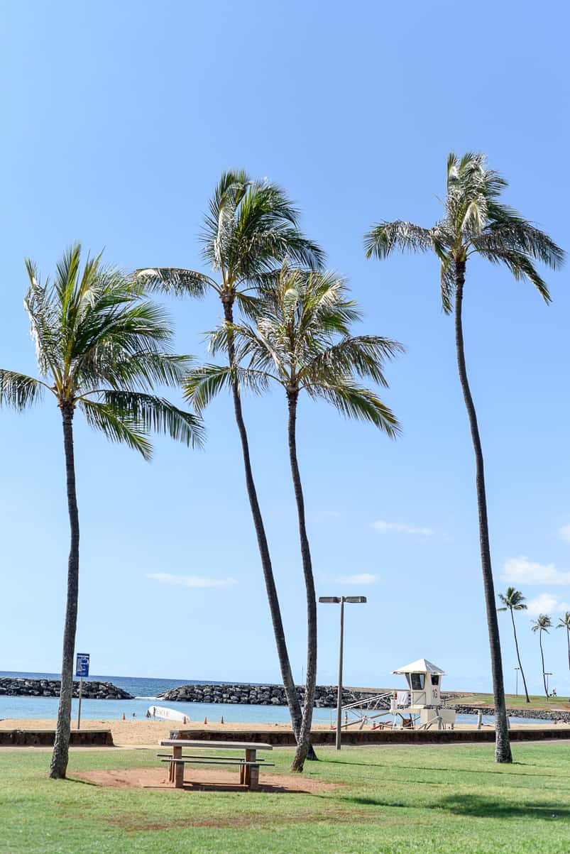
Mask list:
POLYGON ((485 494, 485 468, 483 450, 477 424, 477 413, 473 404, 471 389, 467 380, 465 365, 465 349, 463 345, 463 327, 461 324, 461 308, 463 303, 463 286, 465 284, 465 261, 455 262, 455 349, 457 367, 463 400, 467 409, 473 451, 476 465, 477 506, 479 511, 479 547, 481 551, 481 570, 483 571, 483 589, 485 591, 485 608, 487 626, 489 629, 489 645, 491 647, 491 671, 493 677, 493 695, 495 699, 495 729, 496 746, 495 759, 497 762, 512 762, 513 756, 508 738, 507 710, 505 708, 505 689, 502 679, 501 640, 497 620, 497 605, 495 603, 495 586, 491 567, 491 547, 489 543, 489 522, 487 519, 487 497, 485 494))

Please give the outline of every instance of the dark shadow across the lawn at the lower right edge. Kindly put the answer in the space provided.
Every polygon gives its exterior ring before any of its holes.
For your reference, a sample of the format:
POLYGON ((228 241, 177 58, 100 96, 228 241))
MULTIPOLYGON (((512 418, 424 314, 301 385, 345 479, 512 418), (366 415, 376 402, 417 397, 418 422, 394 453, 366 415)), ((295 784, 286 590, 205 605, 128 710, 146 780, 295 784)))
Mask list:
MULTIPOLYGON (((409 809, 410 804, 403 802, 390 802, 383 798, 350 797, 344 798, 359 806, 379 807, 404 807, 409 809)), ((555 819, 567 820, 570 818, 570 810, 561 809, 556 804, 544 801, 534 801, 528 804, 508 804, 497 801, 497 798, 485 798, 483 795, 462 795, 442 798, 436 804, 422 804, 420 809, 445 810, 455 816, 475 816, 478 818, 541 818, 551 822, 555 819)))

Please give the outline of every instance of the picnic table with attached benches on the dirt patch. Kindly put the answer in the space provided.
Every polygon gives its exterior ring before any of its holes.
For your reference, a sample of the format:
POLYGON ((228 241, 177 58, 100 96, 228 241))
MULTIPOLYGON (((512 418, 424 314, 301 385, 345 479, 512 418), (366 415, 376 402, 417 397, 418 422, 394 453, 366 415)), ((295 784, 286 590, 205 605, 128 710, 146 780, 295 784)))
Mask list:
POLYGON ((239 782, 249 789, 259 787, 259 769, 261 766, 274 765, 257 757, 258 750, 273 750, 271 745, 259 741, 191 741, 187 739, 163 739, 161 747, 171 747, 172 753, 157 753, 161 762, 169 763, 168 779, 174 783, 174 788, 181 789, 184 785, 185 764, 204 765, 238 765, 239 782), (185 753, 183 750, 232 750, 240 751, 243 756, 208 756, 204 753, 185 753))

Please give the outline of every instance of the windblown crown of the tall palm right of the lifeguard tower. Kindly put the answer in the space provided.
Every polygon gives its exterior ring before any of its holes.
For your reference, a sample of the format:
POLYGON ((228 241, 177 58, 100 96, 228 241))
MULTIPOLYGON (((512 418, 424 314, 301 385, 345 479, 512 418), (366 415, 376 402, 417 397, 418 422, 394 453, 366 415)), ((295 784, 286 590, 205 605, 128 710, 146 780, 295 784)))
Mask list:
POLYGON ((443 218, 432 228, 403 220, 380 222, 365 237, 367 257, 385 258, 393 249, 435 252, 445 312, 453 307, 455 265, 464 265, 473 254, 507 266, 516 279, 528 279, 549 302, 535 263, 557 269, 565 253, 544 231, 499 202, 507 186, 501 175, 486 168, 485 155, 468 152, 460 159, 451 153, 443 218))

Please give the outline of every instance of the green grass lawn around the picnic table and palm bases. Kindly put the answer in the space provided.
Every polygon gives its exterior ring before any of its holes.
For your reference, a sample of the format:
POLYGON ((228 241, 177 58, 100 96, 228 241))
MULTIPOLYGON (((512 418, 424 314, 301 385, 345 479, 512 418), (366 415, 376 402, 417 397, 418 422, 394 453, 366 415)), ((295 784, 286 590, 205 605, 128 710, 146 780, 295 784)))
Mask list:
MULTIPOLYGON (((72 752, 70 779, 50 781, 50 752, 0 751, 0 851, 570 851, 570 743, 514 745, 512 765, 495 764, 488 745, 319 753, 322 761, 309 763, 306 773, 343 786, 309 795, 73 781, 80 769, 156 767, 155 752, 144 750, 72 752)), ((287 773, 291 756, 273 751, 276 773, 287 773)))

